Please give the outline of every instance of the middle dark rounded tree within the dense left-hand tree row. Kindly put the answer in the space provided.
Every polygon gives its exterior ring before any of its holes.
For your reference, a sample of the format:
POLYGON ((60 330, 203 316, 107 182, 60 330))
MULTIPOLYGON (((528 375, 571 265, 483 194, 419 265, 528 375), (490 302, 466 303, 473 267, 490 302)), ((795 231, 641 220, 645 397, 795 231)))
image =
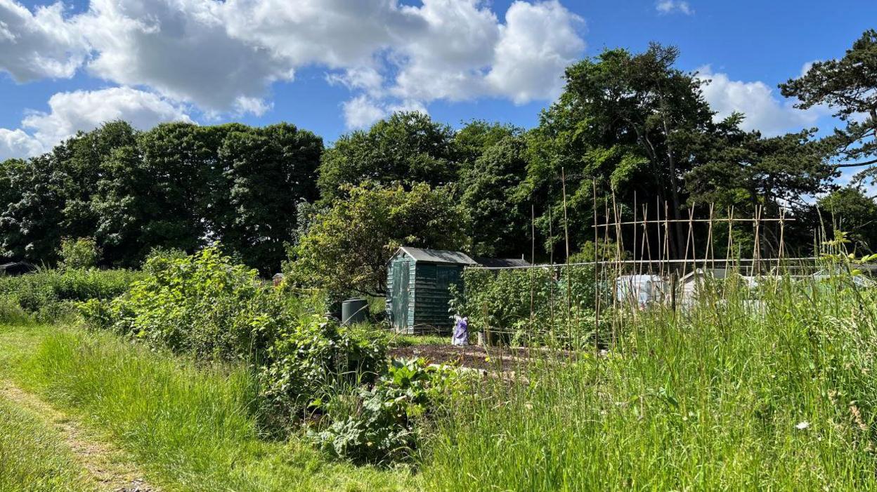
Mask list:
POLYGON ((215 239, 217 148, 229 128, 163 123, 105 160, 91 207, 108 264, 135 267, 153 248, 194 252, 215 239))

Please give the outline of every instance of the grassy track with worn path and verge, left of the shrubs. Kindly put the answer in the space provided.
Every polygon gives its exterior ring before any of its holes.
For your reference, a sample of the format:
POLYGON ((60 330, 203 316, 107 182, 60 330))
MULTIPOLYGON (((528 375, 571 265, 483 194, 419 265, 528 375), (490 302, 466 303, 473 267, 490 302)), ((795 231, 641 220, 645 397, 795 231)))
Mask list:
POLYGON ((408 467, 356 467, 319 453, 300 432, 260 434, 247 406, 253 384, 246 368, 112 334, 0 326, 0 492, 420 488, 408 467), (5 424, 15 439, 4 439, 5 424), (4 459, 16 472, 7 473, 9 487, 4 459))

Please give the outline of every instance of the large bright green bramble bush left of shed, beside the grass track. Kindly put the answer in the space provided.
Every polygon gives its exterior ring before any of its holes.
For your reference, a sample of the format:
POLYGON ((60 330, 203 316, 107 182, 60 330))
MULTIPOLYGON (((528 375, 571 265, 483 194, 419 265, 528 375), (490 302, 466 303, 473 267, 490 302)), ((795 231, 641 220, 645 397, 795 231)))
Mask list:
POLYGON ((125 295, 82 303, 88 324, 156 348, 248 363, 272 426, 303 415, 326 385, 374 380, 383 369, 380 337, 326 321, 317 299, 267 285, 218 246, 189 257, 155 254, 144 272, 125 295))

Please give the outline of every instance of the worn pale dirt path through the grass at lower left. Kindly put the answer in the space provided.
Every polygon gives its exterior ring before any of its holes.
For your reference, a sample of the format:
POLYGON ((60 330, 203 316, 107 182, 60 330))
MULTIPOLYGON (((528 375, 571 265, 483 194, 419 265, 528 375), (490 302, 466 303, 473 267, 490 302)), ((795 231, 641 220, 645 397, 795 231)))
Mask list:
POLYGON ((55 410, 14 383, 0 380, 0 396, 30 410, 61 434, 80 465, 89 473, 100 490, 111 492, 160 492, 146 483, 139 467, 128 456, 110 443, 96 439, 75 420, 55 410))

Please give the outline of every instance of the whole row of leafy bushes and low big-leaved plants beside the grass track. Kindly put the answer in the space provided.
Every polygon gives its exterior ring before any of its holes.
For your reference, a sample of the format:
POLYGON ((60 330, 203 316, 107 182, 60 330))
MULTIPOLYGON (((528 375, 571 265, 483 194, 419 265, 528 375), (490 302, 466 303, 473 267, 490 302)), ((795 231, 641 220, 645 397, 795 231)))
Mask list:
POLYGON ((153 348, 243 364, 258 382, 253 411, 265 430, 276 432, 322 416, 317 425, 328 426, 325 432, 346 427, 351 442, 332 446, 340 457, 386 462, 408 456, 403 448, 416 447, 413 419, 398 412, 408 415, 415 405, 424 406, 431 376, 440 371, 403 366, 413 370, 403 377, 398 376, 403 369, 390 366, 389 379, 373 386, 388 370, 382 334, 339 327, 324 318, 317 297, 267 285, 257 271, 234 264, 217 247, 190 257, 158 254, 144 270, 144 278, 124 295, 82 303, 89 326, 153 348), (349 394, 336 394, 336 404, 326 406, 321 397, 337 388, 349 394), (341 416, 337 402, 345 398, 367 402, 363 408, 371 411, 341 416), (353 429, 359 437, 351 435, 353 429), (387 435, 377 443, 365 436, 369 432, 387 435))

